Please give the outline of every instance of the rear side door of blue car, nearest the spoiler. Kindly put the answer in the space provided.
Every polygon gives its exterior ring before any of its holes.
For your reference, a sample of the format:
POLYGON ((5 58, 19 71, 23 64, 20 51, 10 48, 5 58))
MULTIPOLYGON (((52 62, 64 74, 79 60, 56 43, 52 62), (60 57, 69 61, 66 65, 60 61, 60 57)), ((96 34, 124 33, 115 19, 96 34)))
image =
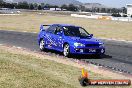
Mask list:
POLYGON ((53 38, 55 29, 56 29, 56 26, 52 25, 46 30, 46 34, 45 34, 45 36, 46 36, 46 46, 48 48, 51 48, 51 49, 53 49, 54 45, 55 45, 54 38, 53 38))

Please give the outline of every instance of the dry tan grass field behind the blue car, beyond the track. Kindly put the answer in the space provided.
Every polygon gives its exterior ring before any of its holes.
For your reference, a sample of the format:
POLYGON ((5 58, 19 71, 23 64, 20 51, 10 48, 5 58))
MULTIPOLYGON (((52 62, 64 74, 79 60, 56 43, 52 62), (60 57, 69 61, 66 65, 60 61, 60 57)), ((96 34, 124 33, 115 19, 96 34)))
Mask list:
POLYGON ((0 16, 1 30, 39 32, 40 24, 74 24, 84 28, 96 37, 132 40, 132 22, 74 18, 39 12, 24 13, 20 16, 0 16))

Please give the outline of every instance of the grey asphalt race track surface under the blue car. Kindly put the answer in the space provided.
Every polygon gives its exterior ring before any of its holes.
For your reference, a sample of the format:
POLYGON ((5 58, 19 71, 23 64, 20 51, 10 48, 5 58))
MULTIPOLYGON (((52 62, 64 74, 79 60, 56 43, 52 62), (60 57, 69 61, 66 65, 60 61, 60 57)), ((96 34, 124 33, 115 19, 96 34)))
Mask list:
MULTIPOLYGON (((105 42, 106 53, 101 59, 93 56, 73 56, 74 59, 80 59, 88 63, 106 67, 123 73, 132 74, 132 42, 102 40, 105 42)), ((0 30, 0 44, 23 47, 33 51, 39 51, 36 33, 24 33, 0 30)), ((49 55, 59 55, 54 51, 46 52, 49 55)), ((62 57, 60 57, 62 58, 62 57)))

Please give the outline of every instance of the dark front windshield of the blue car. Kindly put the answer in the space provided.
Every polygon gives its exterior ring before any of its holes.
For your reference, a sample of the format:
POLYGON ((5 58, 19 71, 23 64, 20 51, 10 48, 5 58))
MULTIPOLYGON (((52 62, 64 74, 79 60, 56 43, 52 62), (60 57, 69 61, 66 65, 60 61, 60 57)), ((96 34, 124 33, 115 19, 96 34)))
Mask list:
POLYGON ((72 36, 72 37, 89 37, 89 33, 81 28, 81 27, 74 27, 74 26, 66 26, 63 27, 65 36, 72 36))

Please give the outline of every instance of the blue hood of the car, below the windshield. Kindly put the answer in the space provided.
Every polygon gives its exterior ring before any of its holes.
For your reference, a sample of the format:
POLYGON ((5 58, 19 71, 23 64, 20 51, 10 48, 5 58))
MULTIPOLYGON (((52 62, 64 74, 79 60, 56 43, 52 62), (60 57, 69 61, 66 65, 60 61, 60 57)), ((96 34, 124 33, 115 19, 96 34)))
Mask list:
POLYGON ((80 37, 69 37, 74 42, 83 43, 83 44, 99 44, 102 43, 100 40, 96 38, 80 38, 80 37))

